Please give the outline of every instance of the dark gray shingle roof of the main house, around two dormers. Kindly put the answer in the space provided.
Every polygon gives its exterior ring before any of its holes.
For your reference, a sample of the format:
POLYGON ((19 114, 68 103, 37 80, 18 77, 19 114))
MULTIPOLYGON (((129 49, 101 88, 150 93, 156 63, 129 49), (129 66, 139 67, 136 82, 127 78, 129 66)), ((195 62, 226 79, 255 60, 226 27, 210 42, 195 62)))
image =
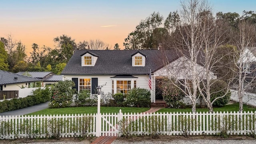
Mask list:
POLYGON ((163 67, 163 59, 179 58, 176 50, 139 50, 146 56, 145 66, 132 66, 132 55, 138 50, 76 50, 61 74, 149 74, 163 67), (81 55, 91 52, 98 56, 95 66, 81 66, 81 55))

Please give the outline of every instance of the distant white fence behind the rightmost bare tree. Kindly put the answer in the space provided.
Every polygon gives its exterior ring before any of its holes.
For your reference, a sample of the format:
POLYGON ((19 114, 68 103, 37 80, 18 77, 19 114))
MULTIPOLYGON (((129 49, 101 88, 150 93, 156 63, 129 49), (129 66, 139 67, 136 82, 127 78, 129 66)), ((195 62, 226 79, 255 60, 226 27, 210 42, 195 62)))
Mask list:
MULTIPOLYGON (((239 102, 238 91, 237 90, 232 90, 232 89, 230 91, 231 91, 230 100, 235 101, 235 102, 239 102)), ((244 104, 248 104, 248 105, 251 105, 251 106, 256 106, 256 94, 246 92, 246 93, 244 93, 244 96, 243 96, 242 100, 243 100, 244 104)))

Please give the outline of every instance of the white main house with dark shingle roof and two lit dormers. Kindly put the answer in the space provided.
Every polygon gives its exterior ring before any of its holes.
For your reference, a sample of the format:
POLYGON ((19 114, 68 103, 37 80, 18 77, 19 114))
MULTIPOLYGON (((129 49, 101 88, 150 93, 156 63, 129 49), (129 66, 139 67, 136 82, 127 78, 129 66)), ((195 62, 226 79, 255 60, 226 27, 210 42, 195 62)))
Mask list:
POLYGON ((126 94, 132 88, 150 90, 151 70, 151 101, 155 102, 156 78, 165 75, 165 59, 171 65, 184 57, 176 50, 76 50, 61 74, 75 82, 78 92, 97 94, 96 87, 104 85, 104 93, 126 94))

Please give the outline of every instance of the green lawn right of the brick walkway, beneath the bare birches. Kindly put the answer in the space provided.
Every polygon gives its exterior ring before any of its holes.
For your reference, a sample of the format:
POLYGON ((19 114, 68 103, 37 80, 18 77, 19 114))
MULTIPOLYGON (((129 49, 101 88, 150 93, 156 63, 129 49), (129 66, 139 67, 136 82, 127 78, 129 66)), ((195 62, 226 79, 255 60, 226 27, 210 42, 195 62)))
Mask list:
MULTIPOLYGON (((246 112, 251 112, 251 111, 256 111, 256 108, 250 107, 248 105, 243 106, 244 111, 246 112)), ((213 108, 214 112, 237 112, 239 110, 239 103, 234 103, 234 104, 228 104, 226 106, 223 106, 221 108, 213 108)), ((196 108, 196 111, 199 112, 208 112, 208 108, 196 108)), ((158 113, 160 112, 191 112, 191 108, 162 108, 160 110, 157 111, 158 113)))

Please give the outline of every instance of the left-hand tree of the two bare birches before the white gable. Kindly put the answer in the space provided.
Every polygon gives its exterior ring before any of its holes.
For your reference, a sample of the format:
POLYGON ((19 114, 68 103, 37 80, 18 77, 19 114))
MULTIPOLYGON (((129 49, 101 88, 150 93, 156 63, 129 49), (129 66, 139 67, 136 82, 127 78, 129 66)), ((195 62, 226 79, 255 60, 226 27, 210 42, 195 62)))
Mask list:
POLYGON ((200 38, 202 31, 198 16, 209 8, 205 0, 184 0, 181 7, 180 21, 176 29, 179 31, 177 38, 180 38, 176 40, 179 58, 171 64, 165 60, 164 71, 168 74, 170 82, 191 100, 192 112, 196 112, 197 90, 204 76, 204 68, 200 65, 203 42, 200 38))

